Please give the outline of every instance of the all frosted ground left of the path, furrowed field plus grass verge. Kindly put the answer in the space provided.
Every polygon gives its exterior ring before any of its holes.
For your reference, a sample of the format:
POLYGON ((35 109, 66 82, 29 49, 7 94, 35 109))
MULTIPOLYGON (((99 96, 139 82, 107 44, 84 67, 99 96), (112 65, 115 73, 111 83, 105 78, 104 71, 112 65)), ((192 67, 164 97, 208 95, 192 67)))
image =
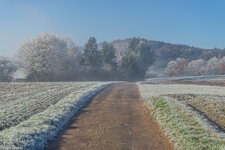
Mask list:
POLYGON ((0 149, 41 149, 109 82, 0 83, 0 149))

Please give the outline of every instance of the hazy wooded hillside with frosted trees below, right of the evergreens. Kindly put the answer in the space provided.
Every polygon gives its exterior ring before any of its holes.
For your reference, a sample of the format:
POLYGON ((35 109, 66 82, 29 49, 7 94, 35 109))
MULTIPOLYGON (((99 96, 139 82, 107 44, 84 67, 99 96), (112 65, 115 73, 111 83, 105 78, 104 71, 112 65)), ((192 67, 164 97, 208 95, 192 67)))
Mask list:
MULTIPOLYGON (((118 58, 126 52, 130 40, 112 42, 118 58)), ((146 78, 225 74, 224 49, 202 49, 152 40, 149 44, 155 61, 146 72, 146 78)))

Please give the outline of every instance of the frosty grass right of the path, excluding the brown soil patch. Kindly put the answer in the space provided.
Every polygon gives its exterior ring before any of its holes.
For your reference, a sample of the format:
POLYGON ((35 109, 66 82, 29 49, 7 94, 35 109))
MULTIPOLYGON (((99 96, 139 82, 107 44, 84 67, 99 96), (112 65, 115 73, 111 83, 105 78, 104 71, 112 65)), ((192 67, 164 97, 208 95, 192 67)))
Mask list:
MULTIPOLYGON (((215 128, 194 112, 186 103, 178 101, 174 98, 161 96, 161 94, 174 94, 182 92, 198 92, 205 94, 204 88, 197 86, 187 89, 186 85, 174 87, 176 85, 147 85, 138 84, 140 93, 144 98, 145 105, 151 110, 157 118, 160 126, 165 131, 165 134, 175 144, 176 149, 181 150, 222 150, 225 147, 225 135, 220 133, 215 128), (171 86, 171 87, 170 87, 171 86), (165 88, 170 88, 165 89, 165 88), (154 91, 157 93, 153 93, 154 91), (182 91, 184 90, 184 91, 182 91)), ((207 87, 207 86, 206 86, 207 87)), ((207 87, 209 91, 210 87, 207 87)), ((214 87, 213 87, 214 88, 214 87)), ((218 94, 218 93, 216 93, 218 94)), ((221 93, 219 93, 221 94, 221 93)))

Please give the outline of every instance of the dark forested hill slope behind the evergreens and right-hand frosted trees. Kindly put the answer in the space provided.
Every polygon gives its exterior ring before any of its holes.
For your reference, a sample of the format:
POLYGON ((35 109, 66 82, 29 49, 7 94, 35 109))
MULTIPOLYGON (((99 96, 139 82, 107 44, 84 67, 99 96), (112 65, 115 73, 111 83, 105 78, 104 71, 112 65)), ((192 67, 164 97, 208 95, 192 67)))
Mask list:
MULTIPOLYGON (((125 40, 114 40, 111 42, 116 49, 117 59, 120 59, 123 56, 130 40, 131 38, 125 40)), ((185 58, 187 60, 195 60, 200 58, 203 60, 209 60, 214 56, 218 58, 225 56, 224 49, 204 49, 153 40, 149 40, 149 42, 155 52, 155 64, 159 68, 166 67, 169 61, 175 60, 178 57, 185 58)))

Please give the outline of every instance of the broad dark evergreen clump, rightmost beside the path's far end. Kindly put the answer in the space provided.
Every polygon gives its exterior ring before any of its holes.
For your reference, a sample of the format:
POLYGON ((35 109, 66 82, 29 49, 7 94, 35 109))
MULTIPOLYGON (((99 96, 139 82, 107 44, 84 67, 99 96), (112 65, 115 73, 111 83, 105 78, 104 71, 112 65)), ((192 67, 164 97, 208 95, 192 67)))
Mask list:
POLYGON ((148 67, 154 62, 154 53, 146 39, 131 39, 120 61, 120 69, 128 80, 142 80, 148 67))

